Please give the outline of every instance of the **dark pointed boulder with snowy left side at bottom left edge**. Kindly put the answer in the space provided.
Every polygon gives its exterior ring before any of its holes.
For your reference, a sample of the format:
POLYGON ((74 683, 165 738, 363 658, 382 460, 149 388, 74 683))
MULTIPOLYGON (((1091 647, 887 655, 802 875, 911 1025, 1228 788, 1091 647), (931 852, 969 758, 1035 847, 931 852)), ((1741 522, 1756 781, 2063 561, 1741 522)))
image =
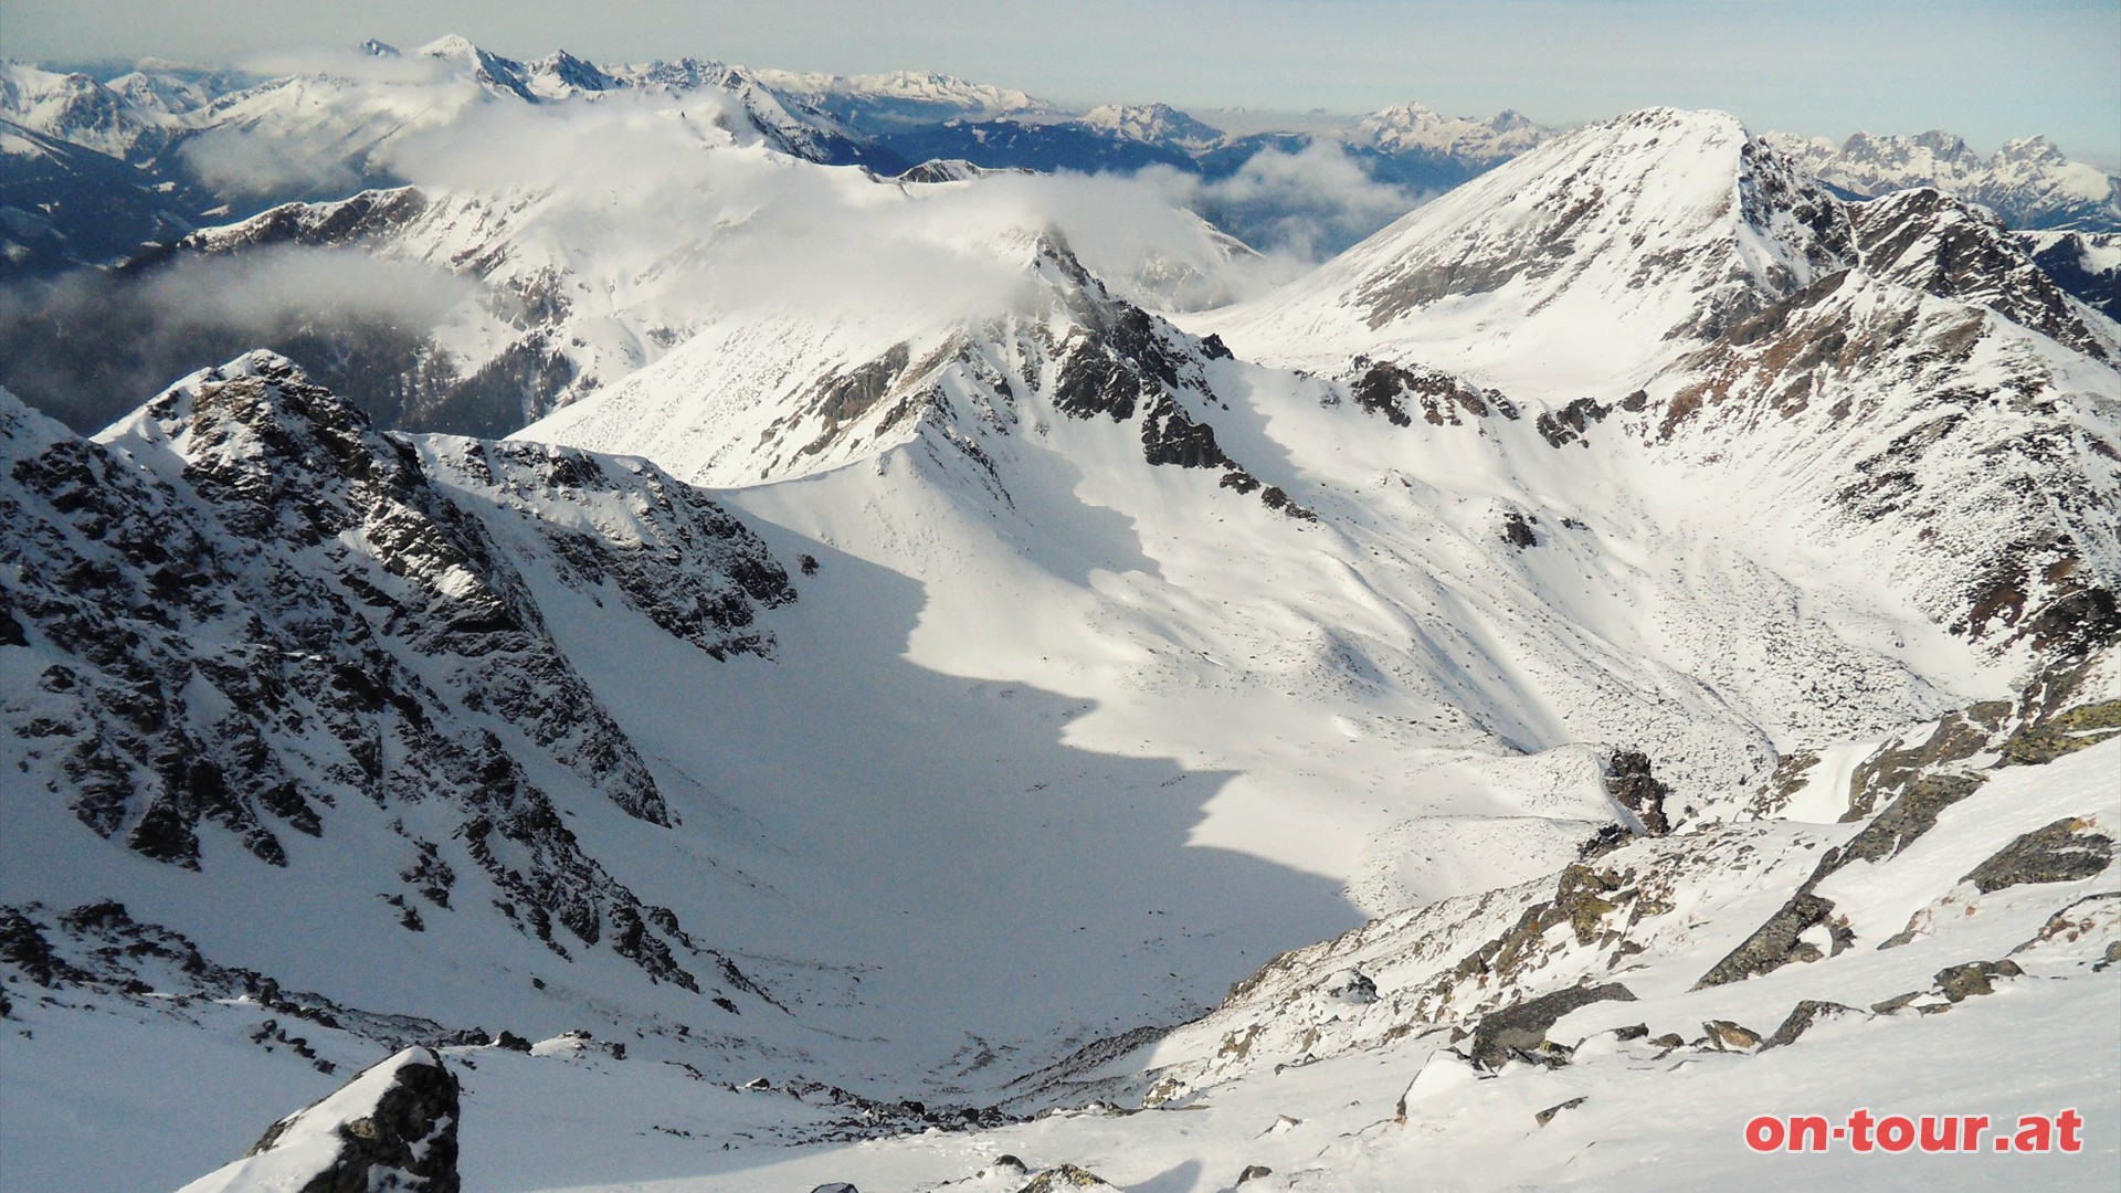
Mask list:
POLYGON ((456 1125, 456 1074, 433 1051, 405 1049, 182 1193, 460 1193, 456 1125))

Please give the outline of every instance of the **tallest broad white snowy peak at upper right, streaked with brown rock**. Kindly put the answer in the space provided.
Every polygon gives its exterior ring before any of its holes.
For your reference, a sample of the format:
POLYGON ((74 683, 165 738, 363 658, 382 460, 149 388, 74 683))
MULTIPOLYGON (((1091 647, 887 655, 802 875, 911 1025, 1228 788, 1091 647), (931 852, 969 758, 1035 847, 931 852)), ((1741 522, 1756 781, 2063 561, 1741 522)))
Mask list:
POLYGON ((1833 195, 1735 119, 1652 108, 1512 159, 1200 325, 1264 363, 1408 355, 1506 391, 1618 395, 1852 248, 1833 195))

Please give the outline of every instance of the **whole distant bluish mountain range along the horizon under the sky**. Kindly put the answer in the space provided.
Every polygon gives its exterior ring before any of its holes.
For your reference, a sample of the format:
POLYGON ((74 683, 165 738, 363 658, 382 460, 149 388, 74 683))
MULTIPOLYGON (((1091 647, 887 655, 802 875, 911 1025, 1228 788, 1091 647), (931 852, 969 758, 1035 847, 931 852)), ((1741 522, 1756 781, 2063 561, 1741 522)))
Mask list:
MULTIPOLYGON (((1226 136, 1167 104, 1067 110, 1024 91, 933 72, 863 76, 755 70, 704 59, 596 66, 566 51, 518 62, 445 36, 416 51, 365 42, 358 55, 271 79, 148 62, 108 79, 0 66, 0 121, 17 127, 0 159, 4 229, 0 278, 72 263, 106 263, 168 227, 201 227, 286 200, 344 197, 358 187, 399 185, 392 149, 488 102, 571 104, 630 91, 728 102, 736 121, 795 157, 901 174, 927 161, 988 170, 1135 172, 1164 166, 1209 183, 1230 178, 1260 153, 1332 146, 1364 176, 1408 200, 1447 191, 1525 153, 1559 129, 1519 113, 1444 117, 1398 104, 1349 119, 1338 132, 1226 136), (98 214, 83 197, 89 174, 30 157, 28 134, 125 161, 138 187, 161 195, 132 221, 98 214), (248 149, 246 149, 248 146, 248 149), (78 210, 76 210, 78 208, 78 210)), ((2121 231, 2121 180, 2068 161, 2040 140, 2017 140, 1979 159, 1960 138, 1856 134, 1843 144, 1771 136, 1784 153, 1850 195, 1939 187, 1992 206, 2009 227, 2121 231)), ((1275 212, 1215 210, 1241 240, 1273 236, 1275 212)), ((1340 229, 1313 250, 1336 250, 1362 234, 1340 229)))

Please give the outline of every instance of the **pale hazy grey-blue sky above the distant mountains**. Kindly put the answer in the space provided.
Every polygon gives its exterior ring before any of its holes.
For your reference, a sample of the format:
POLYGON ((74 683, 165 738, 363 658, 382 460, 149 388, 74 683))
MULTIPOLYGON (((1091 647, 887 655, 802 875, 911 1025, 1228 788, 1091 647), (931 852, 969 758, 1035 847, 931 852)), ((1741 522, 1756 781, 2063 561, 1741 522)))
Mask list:
POLYGON ((445 32, 511 57, 923 68, 1060 102, 1572 123, 1644 104, 1756 129, 2047 134, 2121 163, 2121 0, 0 0, 0 57, 214 57, 445 32))

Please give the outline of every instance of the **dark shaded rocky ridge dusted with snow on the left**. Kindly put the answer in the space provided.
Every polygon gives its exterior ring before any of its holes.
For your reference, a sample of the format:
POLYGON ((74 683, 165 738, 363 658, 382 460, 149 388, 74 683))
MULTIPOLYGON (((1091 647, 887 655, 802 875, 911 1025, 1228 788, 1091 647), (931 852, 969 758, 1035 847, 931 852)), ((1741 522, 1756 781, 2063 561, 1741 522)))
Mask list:
POLYGON ((369 809, 403 838, 407 930, 460 911, 471 868, 556 953, 609 947, 689 989, 685 955, 734 972, 562 822, 556 794, 670 809, 530 575, 717 658, 768 654, 757 613, 795 594, 740 522, 638 461, 380 433, 265 352, 102 442, 0 401, 0 645, 30 679, 0 734, 23 798, 193 870, 206 834, 288 866, 288 834, 369 809), (448 809, 439 832, 416 807, 448 809))

